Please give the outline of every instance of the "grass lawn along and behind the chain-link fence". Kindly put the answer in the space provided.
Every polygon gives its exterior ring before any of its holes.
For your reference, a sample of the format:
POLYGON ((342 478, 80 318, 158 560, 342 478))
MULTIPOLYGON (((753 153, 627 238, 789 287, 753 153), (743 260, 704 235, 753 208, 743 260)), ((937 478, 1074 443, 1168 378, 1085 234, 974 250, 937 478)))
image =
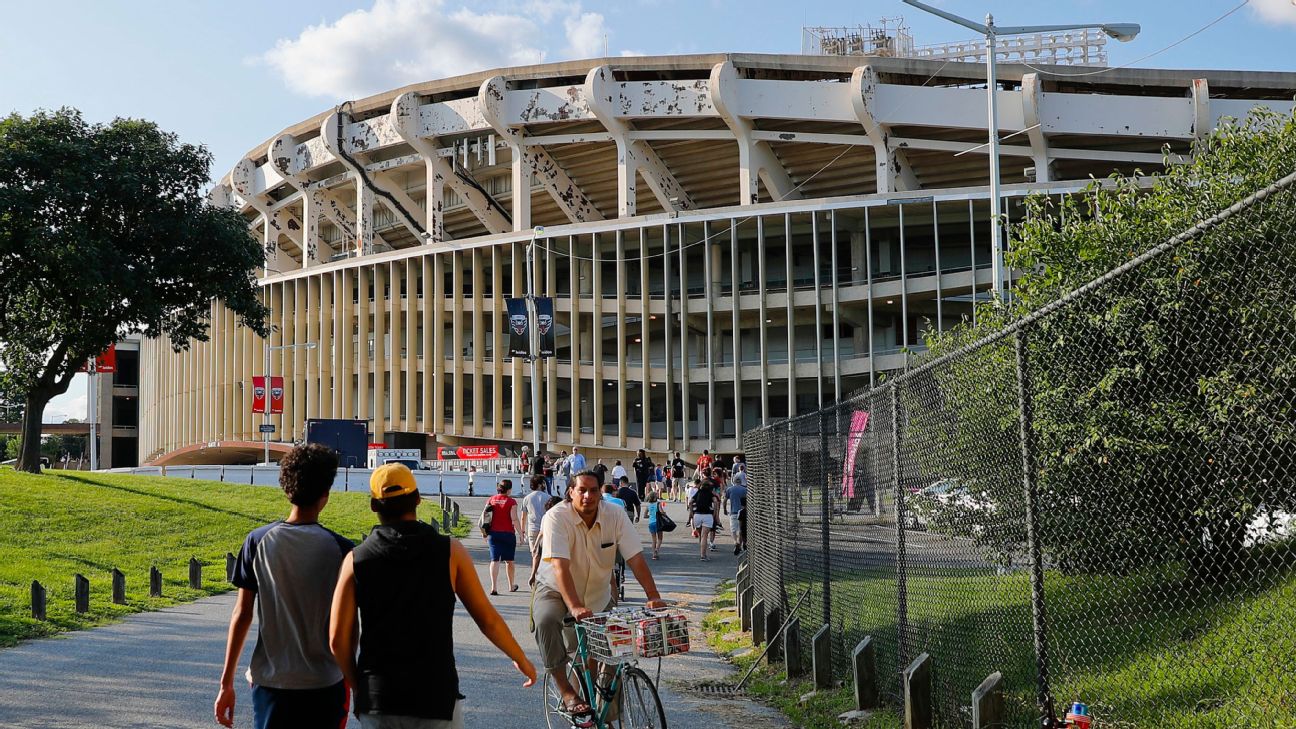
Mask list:
MULTIPOLYGON (((1267 564, 1292 562, 1287 555, 1267 562, 1258 556, 1267 564)), ((842 656, 874 636, 879 671, 894 677, 884 678, 883 693, 896 699, 897 588, 883 572, 833 580, 835 663, 840 678, 846 671, 842 656)), ((1124 577, 1050 572, 1045 582, 1051 687, 1060 710, 1085 700, 1099 721, 1122 728, 1296 728, 1296 575, 1290 569, 1194 584, 1172 564, 1124 577)), ((806 589, 804 627, 822 620, 819 584, 787 584, 789 601, 806 589)), ((908 654, 933 656, 941 715, 966 717, 972 689, 991 671, 1002 671, 1012 725, 1038 725, 1030 720, 1036 655, 1026 573, 914 571, 907 598, 908 654)), ((706 621, 721 652, 750 645, 749 634, 723 623, 724 611, 732 614, 730 604, 732 586, 706 621)), ((807 637, 802 642, 807 645, 807 637)), ((758 671, 753 693, 805 726, 829 725, 837 704, 829 702, 823 717, 798 719, 810 707, 794 699, 809 689, 781 687, 780 678, 758 671)))

